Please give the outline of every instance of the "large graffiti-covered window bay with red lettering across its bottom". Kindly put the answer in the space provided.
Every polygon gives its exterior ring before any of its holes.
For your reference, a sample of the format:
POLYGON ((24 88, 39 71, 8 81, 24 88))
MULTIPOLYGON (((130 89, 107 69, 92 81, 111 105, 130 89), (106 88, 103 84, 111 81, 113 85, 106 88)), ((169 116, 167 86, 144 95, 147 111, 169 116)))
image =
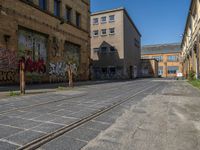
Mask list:
POLYGON ((27 72, 46 72, 47 37, 34 31, 19 30, 18 56, 25 61, 27 72))

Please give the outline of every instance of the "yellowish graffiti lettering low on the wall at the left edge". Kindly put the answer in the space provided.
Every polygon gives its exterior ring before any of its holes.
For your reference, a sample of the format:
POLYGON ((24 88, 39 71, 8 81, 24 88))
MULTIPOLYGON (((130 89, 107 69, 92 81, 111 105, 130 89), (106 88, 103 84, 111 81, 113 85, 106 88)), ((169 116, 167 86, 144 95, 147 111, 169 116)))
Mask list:
POLYGON ((0 71, 0 81, 15 81, 15 71, 0 71))

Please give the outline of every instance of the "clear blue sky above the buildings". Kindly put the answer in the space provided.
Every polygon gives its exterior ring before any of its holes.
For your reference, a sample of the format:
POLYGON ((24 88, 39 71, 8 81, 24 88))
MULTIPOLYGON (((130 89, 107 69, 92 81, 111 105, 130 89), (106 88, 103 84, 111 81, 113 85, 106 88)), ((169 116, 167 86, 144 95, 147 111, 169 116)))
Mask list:
POLYGON ((142 45, 181 42, 190 0, 91 0, 91 11, 125 7, 142 45))

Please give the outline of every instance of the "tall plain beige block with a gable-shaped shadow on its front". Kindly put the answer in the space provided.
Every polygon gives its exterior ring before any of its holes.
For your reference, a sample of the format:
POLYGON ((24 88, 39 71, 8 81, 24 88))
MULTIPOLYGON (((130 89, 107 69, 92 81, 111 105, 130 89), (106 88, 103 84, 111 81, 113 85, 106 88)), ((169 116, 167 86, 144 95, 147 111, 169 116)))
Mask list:
POLYGON ((91 15, 92 77, 127 79, 138 76, 141 34, 124 8, 91 15))

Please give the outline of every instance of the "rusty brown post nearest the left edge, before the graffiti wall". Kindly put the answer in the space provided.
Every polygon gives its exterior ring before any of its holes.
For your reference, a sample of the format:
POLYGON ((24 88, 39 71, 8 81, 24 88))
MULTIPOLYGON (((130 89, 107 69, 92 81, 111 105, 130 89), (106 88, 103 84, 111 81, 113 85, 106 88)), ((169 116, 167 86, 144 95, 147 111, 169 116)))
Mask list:
POLYGON ((20 62, 20 94, 25 94, 25 63, 20 62))

